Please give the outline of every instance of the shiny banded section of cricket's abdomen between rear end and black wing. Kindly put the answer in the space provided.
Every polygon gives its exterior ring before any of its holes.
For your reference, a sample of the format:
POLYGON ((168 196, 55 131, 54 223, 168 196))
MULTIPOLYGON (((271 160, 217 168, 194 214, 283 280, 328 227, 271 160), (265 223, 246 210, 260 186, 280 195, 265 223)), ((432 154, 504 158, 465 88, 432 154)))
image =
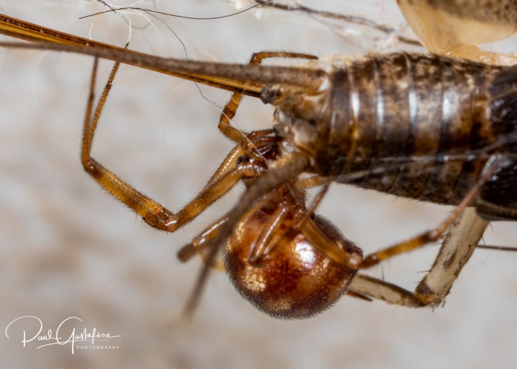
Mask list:
POLYGON ((494 144, 488 88, 499 67, 415 54, 376 56, 348 68, 357 129, 345 172, 357 186, 457 204, 494 144))

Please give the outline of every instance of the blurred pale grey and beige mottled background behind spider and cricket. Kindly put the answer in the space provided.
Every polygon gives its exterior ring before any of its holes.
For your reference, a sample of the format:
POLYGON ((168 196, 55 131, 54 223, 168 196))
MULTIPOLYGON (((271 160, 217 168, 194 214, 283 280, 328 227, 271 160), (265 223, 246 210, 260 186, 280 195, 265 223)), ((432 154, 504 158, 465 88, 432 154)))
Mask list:
MULTIPOLYGON (((395 3, 325 0, 307 5, 362 15, 404 32, 395 3)), ((195 17, 236 9, 220 0, 138 5, 195 17)), ((0 4, 0 11, 12 17, 83 37, 91 31, 93 39, 123 45, 128 25, 116 14, 78 20, 104 9, 93 0, 0 4)), ((179 40, 191 59, 240 63, 260 50, 325 55, 405 48, 368 28, 267 9, 212 21, 147 18, 152 24, 130 16, 130 47, 180 58, 185 52, 179 40)), ((444 308, 435 311, 345 297, 315 318, 280 321, 257 312, 224 274, 214 272, 193 320, 181 320, 201 263, 181 264, 176 251, 229 209, 239 191, 168 235, 100 190, 79 161, 92 63, 85 56, 0 51, 0 328, 33 315, 43 321, 43 332, 55 331, 61 321, 77 316, 81 327, 121 335, 112 341, 119 348, 72 355, 69 345, 36 350, 32 342, 22 347, 22 330, 34 327, 13 325, 11 339, 0 337, 3 366, 514 366, 517 253, 476 251, 444 308)), ((101 67, 98 91, 112 63, 104 61, 101 67)), ((201 88, 220 106, 230 96, 201 88)), ((271 107, 245 98, 235 124, 248 130, 270 127, 271 114, 271 107)), ((100 122, 94 157, 176 211, 232 147, 217 130, 218 117, 218 109, 193 83, 123 66, 100 122)), ((448 211, 345 186, 334 186, 318 209, 366 252, 433 227, 448 211)), ((485 234, 487 243, 515 246, 515 240, 512 223, 494 224, 485 234)), ((430 246, 402 255, 368 273, 413 289, 437 250, 430 246)))

